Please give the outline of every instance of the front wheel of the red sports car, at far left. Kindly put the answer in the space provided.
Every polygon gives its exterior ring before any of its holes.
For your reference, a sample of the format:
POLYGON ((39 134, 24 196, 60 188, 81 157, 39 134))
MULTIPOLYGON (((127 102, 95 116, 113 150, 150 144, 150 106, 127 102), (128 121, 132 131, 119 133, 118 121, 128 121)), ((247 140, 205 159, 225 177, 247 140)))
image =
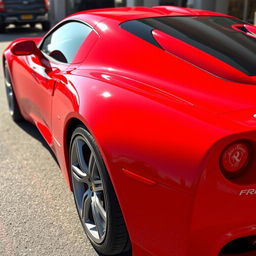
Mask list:
POLYGON ((20 113, 20 109, 16 100, 16 96, 13 90, 12 81, 8 65, 4 63, 4 81, 5 81, 5 91, 7 96, 9 113, 15 122, 20 122, 23 120, 23 117, 20 113))

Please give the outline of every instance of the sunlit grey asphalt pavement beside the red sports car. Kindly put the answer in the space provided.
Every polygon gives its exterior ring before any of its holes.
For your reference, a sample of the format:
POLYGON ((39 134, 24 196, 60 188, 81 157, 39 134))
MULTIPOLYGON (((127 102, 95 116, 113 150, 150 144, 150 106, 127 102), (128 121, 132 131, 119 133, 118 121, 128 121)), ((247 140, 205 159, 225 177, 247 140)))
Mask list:
MULTIPOLYGON (((40 28, 9 28, 0 53, 40 28)), ((37 129, 8 113, 0 67, 0 255, 97 256, 84 235, 59 166, 37 129)))

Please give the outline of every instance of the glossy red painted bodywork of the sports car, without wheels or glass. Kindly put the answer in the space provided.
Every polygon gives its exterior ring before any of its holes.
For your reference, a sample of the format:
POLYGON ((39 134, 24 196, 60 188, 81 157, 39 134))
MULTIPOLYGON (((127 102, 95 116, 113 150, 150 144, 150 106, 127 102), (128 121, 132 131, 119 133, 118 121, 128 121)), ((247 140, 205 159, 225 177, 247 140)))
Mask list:
POLYGON ((256 235, 256 195, 241 192, 256 189, 255 76, 174 38, 169 54, 120 27, 198 15, 229 17, 176 7, 81 12, 66 21, 86 22, 94 33, 72 64, 51 62, 47 73, 36 56, 14 56, 11 46, 4 53, 22 115, 55 152, 70 188, 72 129, 82 122, 95 138, 136 256, 222 255, 231 241, 256 235), (253 159, 233 181, 220 157, 241 140, 253 159))

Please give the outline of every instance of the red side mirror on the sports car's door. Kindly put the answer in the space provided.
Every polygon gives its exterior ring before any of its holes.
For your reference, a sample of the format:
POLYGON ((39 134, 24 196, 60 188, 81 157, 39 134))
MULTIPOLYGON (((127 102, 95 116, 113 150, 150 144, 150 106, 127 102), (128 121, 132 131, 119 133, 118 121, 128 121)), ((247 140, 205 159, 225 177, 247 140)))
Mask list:
POLYGON ((14 43, 11 47, 11 52, 16 56, 24 56, 35 54, 38 55, 40 52, 36 44, 32 40, 21 41, 14 43))

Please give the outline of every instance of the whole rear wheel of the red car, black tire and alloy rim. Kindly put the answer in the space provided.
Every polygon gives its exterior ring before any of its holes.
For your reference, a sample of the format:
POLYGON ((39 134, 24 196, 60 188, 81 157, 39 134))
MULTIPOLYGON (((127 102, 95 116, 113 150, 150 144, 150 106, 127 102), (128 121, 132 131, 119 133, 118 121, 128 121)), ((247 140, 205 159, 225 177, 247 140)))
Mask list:
POLYGON ((112 183, 95 140, 83 126, 72 135, 69 157, 77 212, 93 247, 101 255, 129 251, 129 235, 112 183))

